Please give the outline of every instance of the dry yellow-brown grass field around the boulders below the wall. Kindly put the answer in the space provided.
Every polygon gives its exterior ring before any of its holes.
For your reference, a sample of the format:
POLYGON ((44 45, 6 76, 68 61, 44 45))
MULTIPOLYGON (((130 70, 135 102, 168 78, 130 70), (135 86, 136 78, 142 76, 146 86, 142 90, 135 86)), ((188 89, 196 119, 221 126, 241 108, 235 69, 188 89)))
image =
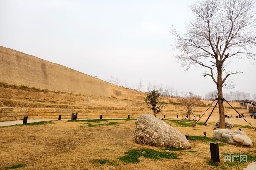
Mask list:
MULTIPOLYGON (((218 118, 210 118, 208 125, 180 119, 164 120, 179 129, 184 135, 189 133, 191 149, 174 151, 136 143, 133 137, 135 119, 51 121, 43 125, 19 125, 0 128, 0 169, 22 167, 22 169, 243 169, 249 162, 224 163, 224 155, 248 155, 248 161, 255 161, 255 146, 243 147, 219 142, 220 162, 211 162, 210 141, 192 140, 193 136, 213 139, 212 131, 218 118), (222 143, 222 144, 220 144, 222 143), (220 146, 221 145, 221 146, 220 146), (142 150, 141 152, 138 150, 142 150), (133 151, 132 151, 133 150, 133 151), (137 151, 134 151, 137 150, 137 151), (135 153, 128 159, 125 152, 135 153), (156 152, 159 151, 159 152, 156 152), (156 157, 174 155, 177 159, 156 157), (139 154, 140 153, 140 154, 139 154), (124 157, 126 155, 126 157, 124 157), (127 159, 126 159, 127 158, 127 159), (139 160, 139 162, 131 162, 139 160), (130 162, 129 162, 130 161, 130 162)), ((234 130, 242 130, 256 141, 255 130, 243 119, 229 119, 236 124, 234 130)), ((247 118, 253 126, 256 120, 247 118)), ((203 138, 204 139, 204 138, 203 138)), ((171 157, 170 157, 171 158, 171 157)))

